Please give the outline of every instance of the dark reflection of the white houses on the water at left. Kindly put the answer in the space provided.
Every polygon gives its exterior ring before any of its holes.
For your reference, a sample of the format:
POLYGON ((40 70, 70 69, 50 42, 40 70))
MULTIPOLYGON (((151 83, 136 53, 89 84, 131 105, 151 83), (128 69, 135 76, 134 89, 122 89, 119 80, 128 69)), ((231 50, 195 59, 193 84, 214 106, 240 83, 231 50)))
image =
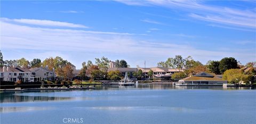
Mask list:
POLYGON ((38 102, 38 101, 59 101, 68 100, 71 98, 66 97, 51 97, 51 96, 26 96, 15 95, 21 92, 2 92, 0 93, 0 102, 38 102))

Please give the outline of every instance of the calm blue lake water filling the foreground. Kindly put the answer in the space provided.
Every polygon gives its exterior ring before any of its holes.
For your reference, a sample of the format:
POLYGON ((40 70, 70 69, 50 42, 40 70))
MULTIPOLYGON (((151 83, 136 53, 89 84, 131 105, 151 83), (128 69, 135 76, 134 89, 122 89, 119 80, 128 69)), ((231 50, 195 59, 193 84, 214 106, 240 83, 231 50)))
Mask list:
POLYGON ((256 90, 139 84, 2 92, 0 117, 1 123, 255 123, 256 90))

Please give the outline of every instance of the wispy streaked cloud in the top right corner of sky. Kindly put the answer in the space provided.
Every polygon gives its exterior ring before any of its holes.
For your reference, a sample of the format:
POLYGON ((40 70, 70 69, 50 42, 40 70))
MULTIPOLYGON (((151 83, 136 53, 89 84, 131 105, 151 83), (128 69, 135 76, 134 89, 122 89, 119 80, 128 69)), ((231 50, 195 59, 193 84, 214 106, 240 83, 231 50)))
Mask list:
POLYGON ((162 6, 187 12, 189 17, 197 20, 209 21, 219 24, 241 26, 244 28, 256 28, 255 8, 230 8, 226 6, 211 6, 202 1, 136 1, 136 4, 122 2, 127 5, 151 5, 162 6))

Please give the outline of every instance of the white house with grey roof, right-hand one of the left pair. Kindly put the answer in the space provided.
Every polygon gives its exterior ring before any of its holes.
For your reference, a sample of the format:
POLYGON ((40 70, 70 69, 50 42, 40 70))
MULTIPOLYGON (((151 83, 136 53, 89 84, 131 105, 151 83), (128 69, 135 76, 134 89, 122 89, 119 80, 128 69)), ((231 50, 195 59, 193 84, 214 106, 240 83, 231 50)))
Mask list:
MULTIPOLYGON (((35 77, 40 77, 37 81, 53 81, 55 74, 54 74, 54 68, 53 70, 49 70, 48 66, 44 67, 35 67, 29 69, 32 72, 32 75, 35 77)), ((36 81, 35 81, 36 82, 36 81)))

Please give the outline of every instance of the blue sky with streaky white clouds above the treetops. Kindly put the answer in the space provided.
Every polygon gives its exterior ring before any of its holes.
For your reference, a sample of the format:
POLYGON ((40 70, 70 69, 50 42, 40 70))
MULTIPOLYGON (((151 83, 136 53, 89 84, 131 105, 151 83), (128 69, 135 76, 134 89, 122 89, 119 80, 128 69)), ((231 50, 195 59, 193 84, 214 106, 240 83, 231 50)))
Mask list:
POLYGON ((4 59, 105 56, 131 67, 168 57, 256 58, 255 1, 1 1, 4 59))

